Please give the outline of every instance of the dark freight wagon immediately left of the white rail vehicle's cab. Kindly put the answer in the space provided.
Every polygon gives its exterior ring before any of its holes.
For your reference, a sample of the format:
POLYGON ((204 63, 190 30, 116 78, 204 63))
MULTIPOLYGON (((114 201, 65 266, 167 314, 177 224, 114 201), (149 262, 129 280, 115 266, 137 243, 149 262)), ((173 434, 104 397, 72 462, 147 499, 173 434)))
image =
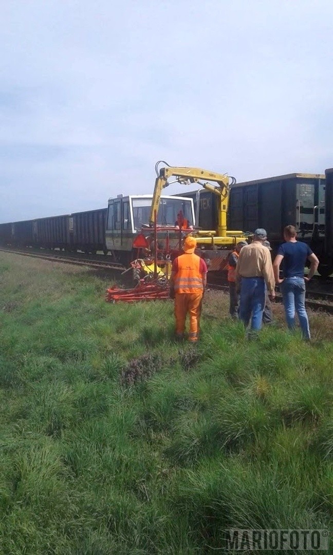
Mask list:
POLYGON ((95 254, 98 250, 107 254, 105 230, 107 228, 107 208, 88 210, 72 214, 72 248, 95 254))

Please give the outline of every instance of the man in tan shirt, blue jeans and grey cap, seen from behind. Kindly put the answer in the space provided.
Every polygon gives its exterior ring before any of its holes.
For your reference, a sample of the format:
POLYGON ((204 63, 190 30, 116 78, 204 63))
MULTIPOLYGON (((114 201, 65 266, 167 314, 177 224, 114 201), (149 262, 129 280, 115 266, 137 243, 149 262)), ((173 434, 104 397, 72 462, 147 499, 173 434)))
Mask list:
POLYGON ((236 266, 236 282, 241 281, 239 318, 246 327, 251 319, 251 330, 254 331, 260 330, 263 322, 265 284, 270 300, 275 297, 270 251, 263 244, 266 240, 266 230, 256 229, 253 242, 241 249, 236 266))

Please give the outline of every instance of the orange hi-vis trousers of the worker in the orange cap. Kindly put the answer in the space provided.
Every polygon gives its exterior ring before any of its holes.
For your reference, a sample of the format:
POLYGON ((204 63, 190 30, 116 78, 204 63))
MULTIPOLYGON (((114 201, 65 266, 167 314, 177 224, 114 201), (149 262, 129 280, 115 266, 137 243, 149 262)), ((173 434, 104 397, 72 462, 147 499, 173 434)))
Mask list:
POLYGON ((175 294, 176 335, 178 337, 182 337, 184 335, 186 315, 189 313, 189 341, 198 341, 202 299, 202 292, 175 294))

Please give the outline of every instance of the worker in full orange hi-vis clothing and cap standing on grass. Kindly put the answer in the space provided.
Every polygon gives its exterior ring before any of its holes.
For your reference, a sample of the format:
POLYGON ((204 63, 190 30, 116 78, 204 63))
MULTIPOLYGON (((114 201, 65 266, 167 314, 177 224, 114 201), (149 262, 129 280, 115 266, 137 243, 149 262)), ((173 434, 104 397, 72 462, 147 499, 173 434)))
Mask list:
POLYGON ((187 236, 184 254, 172 265, 170 296, 175 299, 176 337, 183 339, 186 315, 190 316, 189 341, 198 341, 201 302, 207 282, 207 265, 203 258, 194 254, 196 239, 187 236))

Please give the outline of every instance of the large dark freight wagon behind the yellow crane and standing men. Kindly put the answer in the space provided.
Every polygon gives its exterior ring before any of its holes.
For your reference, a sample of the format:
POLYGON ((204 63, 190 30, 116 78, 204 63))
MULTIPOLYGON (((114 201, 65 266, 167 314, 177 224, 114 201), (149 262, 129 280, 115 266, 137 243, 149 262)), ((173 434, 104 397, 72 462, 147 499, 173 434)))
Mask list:
MULTIPOLYGON (((289 174, 235 184, 230 191, 228 229, 253 233, 256 228, 265 228, 276 250, 284 241, 284 227, 295 225, 299 240, 309 243, 319 256, 320 273, 330 275, 325 244, 325 183, 325 175, 289 174)), ((194 200, 200 228, 216 229, 216 195, 200 190, 181 196, 194 200)))

